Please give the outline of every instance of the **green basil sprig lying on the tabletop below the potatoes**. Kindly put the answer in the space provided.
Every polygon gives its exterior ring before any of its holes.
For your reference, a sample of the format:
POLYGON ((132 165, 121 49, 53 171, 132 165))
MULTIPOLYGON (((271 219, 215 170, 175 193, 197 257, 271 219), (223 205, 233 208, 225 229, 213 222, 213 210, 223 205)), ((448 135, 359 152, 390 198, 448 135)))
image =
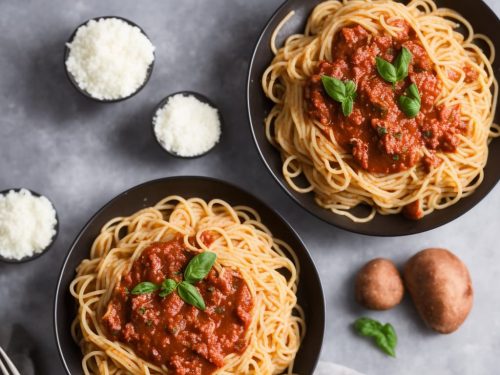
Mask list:
POLYGON ((354 322, 354 329, 361 336, 372 337, 387 355, 396 356, 398 336, 390 323, 382 324, 370 318, 359 318, 354 322))

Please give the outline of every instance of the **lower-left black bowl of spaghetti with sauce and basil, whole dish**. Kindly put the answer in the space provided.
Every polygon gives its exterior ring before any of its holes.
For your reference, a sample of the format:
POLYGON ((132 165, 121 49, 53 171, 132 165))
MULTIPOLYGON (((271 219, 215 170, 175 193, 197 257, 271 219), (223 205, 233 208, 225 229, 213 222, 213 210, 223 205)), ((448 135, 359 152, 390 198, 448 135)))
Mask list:
POLYGON ((68 374, 309 374, 325 304, 275 211, 219 180, 171 177, 120 194, 83 228, 54 319, 68 374))

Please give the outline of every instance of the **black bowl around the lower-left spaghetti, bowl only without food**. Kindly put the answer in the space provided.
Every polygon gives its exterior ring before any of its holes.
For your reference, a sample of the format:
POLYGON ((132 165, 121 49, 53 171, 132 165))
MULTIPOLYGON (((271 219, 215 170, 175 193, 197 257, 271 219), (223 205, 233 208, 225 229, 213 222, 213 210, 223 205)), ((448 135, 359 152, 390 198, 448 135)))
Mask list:
POLYGON ((116 216, 130 215, 149 207, 169 194, 203 199, 222 198, 232 205, 248 205, 259 212, 264 224, 277 238, 292 246, 300 262, 300 283, 297 292, 304 308, 307 324, 306 336, 297 354, 296 374, 312 374, 318 361, 325 329, 325 300, 314 263, 290 225, 261 200, 240 188, 209 177, 169 177, 136 186, 118 195, 101 208, 85 225, 64 261, 57 284, 54 304, 54 326, 57 346, 68 374, 82 374, 82 353, 71 337, 71 322, 76 316, 76 302, 69 292, 77 265, 88 258, 92 242, 101 227, 116 216))

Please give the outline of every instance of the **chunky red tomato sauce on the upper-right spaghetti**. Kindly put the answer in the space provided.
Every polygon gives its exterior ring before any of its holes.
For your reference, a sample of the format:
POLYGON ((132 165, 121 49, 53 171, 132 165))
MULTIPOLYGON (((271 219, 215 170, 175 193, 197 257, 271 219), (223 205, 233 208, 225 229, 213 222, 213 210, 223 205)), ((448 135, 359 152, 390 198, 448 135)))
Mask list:
MULTIPOLYGON (((344 27, 334 41, 332 61, 320 61, 306 86, 309 115, 322 130, 333 130, 336 141, 352 153, 364 170, 395 173, 422 162, 427 171, 438 166, 436 151, 454 152, 458 135, 466 131, 458 105, 436 105, 440 83, 433 64, 415 32, 404 21, 393 25, 402 31, 397 37, 373 36, 361 26, 344 27), (412 54, 409 74, 394 87, 377 72, 377 56, 393 63, 402 47, 412 54), (321 76, 353 80, 357 97, 352 113, 345 117, 339 103, 323 88, 321 76), (408 118, 398 105, 398 98, 415 83, 421 97, 417 117, 408 118), (422 148, 431 156, 424 157, 422 148)), ((467 79, 475 79, 467 71, 467 79)))

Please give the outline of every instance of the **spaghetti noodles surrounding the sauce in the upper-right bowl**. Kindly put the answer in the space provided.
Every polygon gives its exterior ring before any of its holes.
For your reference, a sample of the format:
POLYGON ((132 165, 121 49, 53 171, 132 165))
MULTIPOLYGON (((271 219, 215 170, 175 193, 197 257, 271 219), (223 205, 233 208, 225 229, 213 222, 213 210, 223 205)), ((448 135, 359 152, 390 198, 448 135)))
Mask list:
MULTIPOLYGON (((273 44, 281 26, 274 31, 273 44)), ((292 35, 283 47, 272 45, 272 49, 275 57, 262 77, 264 92, 275 103, 265 121, 266 136, 280 150, 283 175, 295 191, 313 192, 325 209, 367 222, 377 212, 397 214, 407 208, 418 208, 415 218, 419 218, 457 203, 481 184, 488 143, 500 135, 500 127, 493 123, 498 97, 492 68, 495 49, 455 11, 438 8, 433 0, 413 0, 408 5, 391 0, 329 0, 313 10, 304 34, 292 35), (418 158, 433 158, 431 167, 419 162, 390 173, 373 172, 360 166, 356 150, 341 142, 334 120, 326 127, 311 116, 310 81, 321 62, 335 58, 344 28, 360 26, 372 37, 397 39, 405 25, 437 78, 439 91, 431 104, 456 108, 464 131, 454 135, 453 152, 431 150, 421 142, 418 158), (465 34, 456 31, 459 26, 465 34), (489 55, 479 45, 485 45, 489 55), (299 176, 306 178, 306 186, 298 183, 299 176), (350 211, 360 204, 372 207, 368 216, 357 217, 350 211)), ((362 79, 355 77, 358 87, 362 79)), ((386 129, 379 129, 385 135, 386 129)))

